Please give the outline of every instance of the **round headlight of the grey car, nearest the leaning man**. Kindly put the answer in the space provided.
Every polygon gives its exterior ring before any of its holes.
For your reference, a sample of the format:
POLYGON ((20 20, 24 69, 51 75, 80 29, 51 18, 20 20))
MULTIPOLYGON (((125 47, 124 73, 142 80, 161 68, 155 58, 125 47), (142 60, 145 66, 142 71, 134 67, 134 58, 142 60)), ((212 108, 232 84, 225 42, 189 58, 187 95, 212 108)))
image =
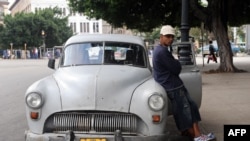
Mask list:
POLYGON ((148 99, 148 105, 152 110, 159 111, 164 107, 165 101, 161 95, 153 94, 148 99))

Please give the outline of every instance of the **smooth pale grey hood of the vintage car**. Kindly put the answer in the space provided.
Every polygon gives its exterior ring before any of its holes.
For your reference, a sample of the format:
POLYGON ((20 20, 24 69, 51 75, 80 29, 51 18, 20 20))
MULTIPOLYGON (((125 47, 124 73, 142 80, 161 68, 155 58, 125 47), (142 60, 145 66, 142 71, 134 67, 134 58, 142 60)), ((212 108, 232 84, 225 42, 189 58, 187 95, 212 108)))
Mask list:
POLYGON ((151 78, 150 70, 131 66, 77 66, 58 69, 62 110, 128 112, 133 91, 151 78))

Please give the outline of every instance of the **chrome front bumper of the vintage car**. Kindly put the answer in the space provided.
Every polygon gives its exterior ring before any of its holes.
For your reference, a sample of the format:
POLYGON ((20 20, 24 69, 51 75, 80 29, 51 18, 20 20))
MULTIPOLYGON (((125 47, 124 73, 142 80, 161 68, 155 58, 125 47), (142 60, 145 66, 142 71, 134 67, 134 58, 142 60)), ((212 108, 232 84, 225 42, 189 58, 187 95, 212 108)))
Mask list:
POLYGON ((65 134, 34 134, 30 131, 25 131, 25 141, 80 141, 81 138, 105 138, 107 141, 166 141, 169 134, 157 136, 122 136, 120 131, 114 132, 114 135, 88 135, 74 134, 68 131, 65 134))

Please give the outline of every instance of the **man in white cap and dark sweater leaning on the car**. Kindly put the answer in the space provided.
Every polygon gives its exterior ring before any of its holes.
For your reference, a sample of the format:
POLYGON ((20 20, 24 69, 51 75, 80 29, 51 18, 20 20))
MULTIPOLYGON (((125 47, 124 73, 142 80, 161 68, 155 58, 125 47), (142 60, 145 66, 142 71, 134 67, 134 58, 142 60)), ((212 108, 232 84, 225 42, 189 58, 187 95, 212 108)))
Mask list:
POLYGON ((201 121, 199 109, 191 99, 179 74, 181 64, 170 52, 175 36, 174 28, 165 25, 160 31, 160 44, 153 52, 153 75, 156 82, 162 85, 172 103, 176 126, 181 133, 188 133, 194 141, 215 139, 213 133, 202 134, 198 125, 201 121))

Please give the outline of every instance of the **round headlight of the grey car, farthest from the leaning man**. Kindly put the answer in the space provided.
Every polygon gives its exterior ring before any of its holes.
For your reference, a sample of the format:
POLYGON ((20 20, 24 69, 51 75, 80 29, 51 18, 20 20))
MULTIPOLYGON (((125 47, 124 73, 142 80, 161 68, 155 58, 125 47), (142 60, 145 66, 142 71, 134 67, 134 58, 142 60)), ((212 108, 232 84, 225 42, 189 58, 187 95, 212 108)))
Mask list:
POLYGON ((26 96, 26 103, 30 108, 40 108, 43 104, 42 96, 38 93, 30 93, 26 96))

